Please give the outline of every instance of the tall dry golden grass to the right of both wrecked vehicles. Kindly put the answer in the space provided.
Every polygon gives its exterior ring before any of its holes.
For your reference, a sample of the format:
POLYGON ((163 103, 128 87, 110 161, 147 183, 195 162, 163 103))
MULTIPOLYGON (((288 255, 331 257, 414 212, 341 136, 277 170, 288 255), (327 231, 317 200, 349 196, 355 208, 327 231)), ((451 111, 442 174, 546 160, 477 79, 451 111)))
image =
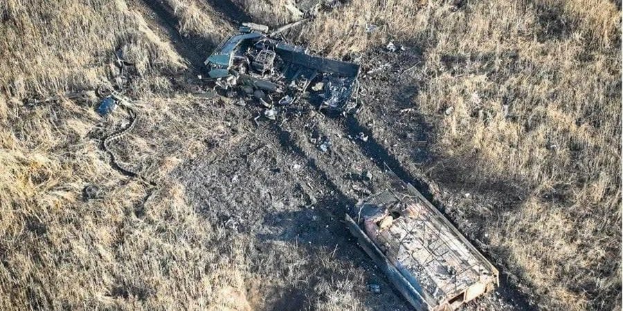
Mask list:
POLYGON ((620 31, 605 0, 355 0, 302 36, 336 57, 421 48, 413 102, 435 126, 433 171, 525 189, 482 223, 492 252, 543 308, 584 310, 620 308, 620 31))

